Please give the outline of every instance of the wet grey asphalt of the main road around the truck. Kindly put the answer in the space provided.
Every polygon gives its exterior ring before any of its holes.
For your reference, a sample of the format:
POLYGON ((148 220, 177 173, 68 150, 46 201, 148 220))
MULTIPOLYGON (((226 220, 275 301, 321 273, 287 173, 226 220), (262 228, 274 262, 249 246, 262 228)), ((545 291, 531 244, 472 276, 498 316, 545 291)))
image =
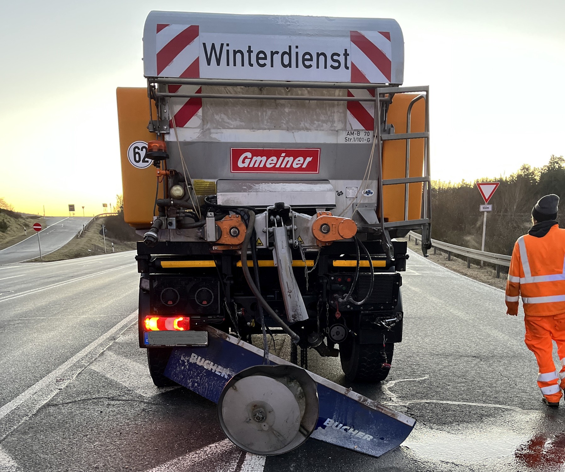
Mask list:
MULTIPOLYGON (((210 401, 151 383, 131 315, 132 259, 122 253, 0 269, 0 292, 14 291, 0 294, 0 375, 8 379, 0 470, 564 469, 565 410, 541 404, 523 320, 504 314, 498 289, 411 253, 404 341, 389 379, 350 386, 416 418, 415 430, 380 458, 310 439, 265 459, 225 439, 210 401)), ((338 360, 312 352, 308 363, 346 384, 338 360)))

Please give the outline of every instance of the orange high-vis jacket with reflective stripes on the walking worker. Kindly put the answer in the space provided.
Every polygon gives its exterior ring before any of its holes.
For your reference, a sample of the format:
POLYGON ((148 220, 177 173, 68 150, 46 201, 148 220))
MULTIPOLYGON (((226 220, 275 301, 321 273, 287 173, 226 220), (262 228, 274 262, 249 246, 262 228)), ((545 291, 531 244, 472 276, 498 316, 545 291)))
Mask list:
POLYGON ((520 295, 526 316, 565 313, 565 229, 557 224, 543 237, 516 241, 506 283, 508 314, 518 314, 520 295))

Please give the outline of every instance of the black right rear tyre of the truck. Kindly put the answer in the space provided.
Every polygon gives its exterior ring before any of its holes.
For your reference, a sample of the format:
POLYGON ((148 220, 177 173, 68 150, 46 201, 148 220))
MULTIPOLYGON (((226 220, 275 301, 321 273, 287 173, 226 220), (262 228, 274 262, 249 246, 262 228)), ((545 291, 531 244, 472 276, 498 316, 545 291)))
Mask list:
POLYGON ((341 370, 351 382, 382 382, 390 372, 394 344, 358 344, 349 336, 340 344, 341 370))

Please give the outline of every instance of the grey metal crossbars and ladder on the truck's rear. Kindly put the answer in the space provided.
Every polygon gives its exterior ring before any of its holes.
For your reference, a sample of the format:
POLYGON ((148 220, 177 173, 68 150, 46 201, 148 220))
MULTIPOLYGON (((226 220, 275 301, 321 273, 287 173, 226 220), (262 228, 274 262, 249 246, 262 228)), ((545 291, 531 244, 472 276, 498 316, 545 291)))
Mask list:
MULTIPOLYGON (((377 189, 379 198, 379 210, 381 217, 377 222, 381 232, 388 235, 389 228, 405 228, 405 229, 421 229, 424 234, 424 247, 429 248, 431 244, 431 179, 430 179, 430 163, 429 163, 429 87, 428 86, 397 86, 386 84, 358 84, 358 83, 326 83, 326 82, 310 82, 310 81, 279 81, 279 80, 230 80, 230 79, 184 79, 184 78, 161 78, 147 77, 147 93, 150 99, 154 99, 155 103, 159 103, 159 99, 169 101, 171 98, 215 98, 215 99, 243 99, 243 100, 301 100, 301 101, 327 101, 327 102, 372 102, 374 129, 373 145, 377 150, 377 189), (375 93, 371 97, 327 97, 327 96, 285 96, 285 95, 260 95, 260 94, 228 94, 228 93, 172 93, 168 91, 168 85, 215 85, 215 86, 241 86, 241 87, 279 87, 279 88, 310 88, 310 89, 366 89, 374 90, 375 93), (381 111, 383 103, 390 103, 397 93, 419 93, 417 97, 412 99, 407 109, 406 133, 389 133, 385 134, 386 120, 381 123, 381 111), (425 98, 425 123, 424 132, 410 132, 410 120, 412 106, 420 99, 425 98), (410 140, 424 139, 424 165, 423 176, 410 177, 410 140), (406 174, 398 179, 383 179, 383 141, 406 140, 406 174), (408 219, 408 185, 411 183, 422 183, 424 189, 422 192, 422 205, 420 218, 408 219), (405 207, 404 219, 394 222, 385 222, 384 220, 384 201, 383 201, 383 185, 405 185, 405 207)), ((163 102, 164 102, 163 101, 163 102)), ((149 124, 151 132, 169 132, 169 115, 168 106, 160 110, 158 116, 164 119, 153 120, 149 124)), ((388 130, 390 131, 390 130, 388 130)), ((358 202, 359 204, 359 202, 358 202)), ((388 238, 389 239, 389 238, 388 238)), ((392 243, 387 241, 389 251, 392 251, 392 243)))

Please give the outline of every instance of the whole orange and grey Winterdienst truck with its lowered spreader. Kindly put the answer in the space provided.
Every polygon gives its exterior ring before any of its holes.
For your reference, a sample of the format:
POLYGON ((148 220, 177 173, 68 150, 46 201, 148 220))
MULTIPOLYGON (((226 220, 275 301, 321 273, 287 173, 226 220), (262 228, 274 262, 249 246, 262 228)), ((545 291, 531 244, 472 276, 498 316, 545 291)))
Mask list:
POLYGON ((316 350, 379 382, 402 340, 395 238, 420 230, 425 253, 431 228, 429 93, 403 61, 389 19, 151 12, 147 88, 118 89, 140 347, 246 451, 311 436, 379 456, 414 427, 307 370, 316 350))

